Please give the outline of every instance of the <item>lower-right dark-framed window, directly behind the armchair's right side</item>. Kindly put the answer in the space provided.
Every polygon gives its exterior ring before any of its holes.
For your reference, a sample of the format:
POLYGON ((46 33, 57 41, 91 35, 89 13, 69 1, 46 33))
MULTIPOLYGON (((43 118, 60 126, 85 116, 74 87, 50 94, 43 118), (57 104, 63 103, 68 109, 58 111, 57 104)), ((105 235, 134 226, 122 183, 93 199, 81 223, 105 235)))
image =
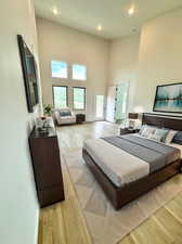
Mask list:
POLYGON ((86 88, 74 87, 74 110, 86 110, 86 88))

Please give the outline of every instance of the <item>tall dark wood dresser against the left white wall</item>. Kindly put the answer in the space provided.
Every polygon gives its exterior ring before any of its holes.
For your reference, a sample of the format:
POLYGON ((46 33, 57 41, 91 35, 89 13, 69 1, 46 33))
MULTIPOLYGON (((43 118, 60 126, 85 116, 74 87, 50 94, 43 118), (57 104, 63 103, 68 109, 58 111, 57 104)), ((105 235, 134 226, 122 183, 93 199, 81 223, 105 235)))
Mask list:
POLYGON ((29 136, 29 146, 40 207, 63 201, 64 184, 55 129, 50 128, 49 133, 42 136, 35 128, 29 136))

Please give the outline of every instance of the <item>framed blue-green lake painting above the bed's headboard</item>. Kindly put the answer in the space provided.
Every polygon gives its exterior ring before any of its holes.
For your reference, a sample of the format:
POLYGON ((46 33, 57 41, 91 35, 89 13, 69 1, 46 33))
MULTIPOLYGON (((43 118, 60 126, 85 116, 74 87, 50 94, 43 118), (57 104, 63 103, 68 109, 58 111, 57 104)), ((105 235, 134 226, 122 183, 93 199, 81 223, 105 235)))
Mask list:
POLYGON ((182 82, 158 86, 153 111, 182 113, 182 82))

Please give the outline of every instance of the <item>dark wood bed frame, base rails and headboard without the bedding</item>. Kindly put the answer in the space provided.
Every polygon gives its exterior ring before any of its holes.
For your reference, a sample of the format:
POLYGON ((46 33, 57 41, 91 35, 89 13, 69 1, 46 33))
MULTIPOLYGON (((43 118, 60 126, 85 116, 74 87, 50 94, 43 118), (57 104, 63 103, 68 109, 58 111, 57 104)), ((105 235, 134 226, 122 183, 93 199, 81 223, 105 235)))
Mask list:
MULTIPOLYGON (((143 114, 142 124, 182 130, 182 117, 177 116, 143 114)), ((182 160, 178 159, 158 171, 119 188, 109 180, 84 149, 82 156, 115 209, 119 209, 125 204, 179 174, 182 166, 182 160)))

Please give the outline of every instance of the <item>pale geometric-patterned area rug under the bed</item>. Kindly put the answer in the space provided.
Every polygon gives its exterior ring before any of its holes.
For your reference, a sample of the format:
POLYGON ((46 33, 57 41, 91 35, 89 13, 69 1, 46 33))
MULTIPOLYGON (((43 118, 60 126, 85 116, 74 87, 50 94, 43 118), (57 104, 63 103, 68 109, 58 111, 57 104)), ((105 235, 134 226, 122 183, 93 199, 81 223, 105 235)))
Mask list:
POLYGON ((81 151, 63 155, 94 244, 116 244, 157 209, 182 192, 177 176, 147 194, 115 210, 81 156, 81 151))

